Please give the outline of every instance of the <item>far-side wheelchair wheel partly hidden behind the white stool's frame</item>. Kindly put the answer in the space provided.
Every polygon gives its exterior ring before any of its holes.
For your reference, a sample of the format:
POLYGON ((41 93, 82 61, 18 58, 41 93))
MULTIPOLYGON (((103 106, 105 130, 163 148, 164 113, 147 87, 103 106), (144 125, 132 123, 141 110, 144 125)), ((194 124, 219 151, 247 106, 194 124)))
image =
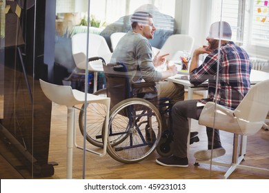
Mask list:
MULTIPOLYGON (((98 96, 106 96, 106 88, 97 90, 97 92, 94 92, 93 94, 98 96)), ((81 111, 79 112, 79 129, 81 134, 84 134, 84 128, 86 128, 87 141, 92 145, 103 148, 101 132, 103 123, 105 121, 106 105, 100 103, 87 104, 86 127, 84 127, 85 114, 83 110, 84 104, 82 105, 81 111)))

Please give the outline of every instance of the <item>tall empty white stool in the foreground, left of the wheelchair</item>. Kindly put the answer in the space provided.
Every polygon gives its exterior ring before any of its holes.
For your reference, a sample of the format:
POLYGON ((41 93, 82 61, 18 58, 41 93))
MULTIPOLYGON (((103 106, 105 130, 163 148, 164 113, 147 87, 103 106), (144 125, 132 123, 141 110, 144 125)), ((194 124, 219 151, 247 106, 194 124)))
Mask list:
MULTIPOLYGON (((106 117, 109 117, 110 110, 110 98, 97 96, 94 94, 85 94, 85 92, 81 92, 79 90, 74 90, 68 85, 55 85, 52 83, 48 83, 39 79, 41 89, 43 93, 50 99, 50 101, 57 103, 59 105, 66 105, 68 108, 68 119, 67 119, 67 159, 66 159, 66 179, 72 179, 72 151, 73 144, 76 148, 83 149, 75 143, 75 113, 74 113, 74 105, 79 105, 85 102, 87 96, 88 103, 102 103, 106 105, 106 117)), ((108 119, 105 121, 106 131, 108 130, 108 119)), ((107 132, 104 139, 107 139, 107 132)), ((103 142, 103 152, 94 152, 93 150, 86 149, 86 151, 91 152, 93 154, 97 154, 99 156, 104 156, 106 154, 107 140, 103 142)))

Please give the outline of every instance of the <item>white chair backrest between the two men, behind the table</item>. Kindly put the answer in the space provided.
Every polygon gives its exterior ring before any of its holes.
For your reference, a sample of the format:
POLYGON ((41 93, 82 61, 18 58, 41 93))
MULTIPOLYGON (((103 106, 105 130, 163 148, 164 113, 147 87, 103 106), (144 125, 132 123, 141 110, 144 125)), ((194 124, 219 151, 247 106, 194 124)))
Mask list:
POLYGON ((179 60, 180 56, 176 56, 175 54, 185 50, 191 53, 194 43, 195 39, 188 34, 172 34, 161 47, 160 54, 169 53, 166 59, 178 58, 179 60))

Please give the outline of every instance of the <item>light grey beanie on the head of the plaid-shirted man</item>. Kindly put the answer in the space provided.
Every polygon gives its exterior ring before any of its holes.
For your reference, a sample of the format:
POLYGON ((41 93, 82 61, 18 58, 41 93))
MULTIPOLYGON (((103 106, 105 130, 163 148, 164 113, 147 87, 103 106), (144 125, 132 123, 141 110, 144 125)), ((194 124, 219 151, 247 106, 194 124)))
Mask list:
POLYGON ((230 24, 226 21, 212 23, 209 30, 209 37, 212 39, 231 40, 232 30, 230 24))

